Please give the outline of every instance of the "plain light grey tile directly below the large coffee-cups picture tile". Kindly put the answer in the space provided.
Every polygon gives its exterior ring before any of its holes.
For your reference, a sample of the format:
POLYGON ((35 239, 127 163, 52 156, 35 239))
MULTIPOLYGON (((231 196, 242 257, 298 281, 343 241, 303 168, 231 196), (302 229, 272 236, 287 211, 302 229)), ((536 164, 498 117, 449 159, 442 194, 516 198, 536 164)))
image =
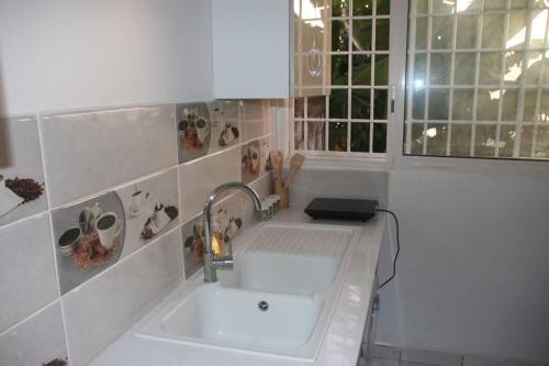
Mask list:
POLYGON ((171 290, 181 256, 176 230, 63 297, 70 365, 87 365, 171 290))

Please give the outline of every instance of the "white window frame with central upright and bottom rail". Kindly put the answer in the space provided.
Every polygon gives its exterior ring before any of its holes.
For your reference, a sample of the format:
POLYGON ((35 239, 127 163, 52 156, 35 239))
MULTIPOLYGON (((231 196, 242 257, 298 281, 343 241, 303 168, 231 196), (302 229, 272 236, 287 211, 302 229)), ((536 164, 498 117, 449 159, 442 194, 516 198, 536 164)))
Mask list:
MULTIPOLYGON (((386 154, 384 158, 368 158, 358 156, 336 156, 330 152, 323 155, 310 154, 305 167, 311 168, 351 168, 351 169, 445 169, 458 171, 501 173, 501 174, 535 174, 546 177, 549 169, 548 160, 503 159, 480 157, 439 157, 404 155, 404 119, 406 93, 406 54, 408 32, 408 0, 392 0, 390 15, 390 45, 389 66, 390 104, 394 109, 388 112, 386 154)), ((293 149, 293 109, 285 103, 277 111, 276 146, 287 156, 287 160, 294 154, 293 149), (280 113, 282 115, 280 115, 280 113)), ((305 136, 306 138, 306 136, 305 136)))

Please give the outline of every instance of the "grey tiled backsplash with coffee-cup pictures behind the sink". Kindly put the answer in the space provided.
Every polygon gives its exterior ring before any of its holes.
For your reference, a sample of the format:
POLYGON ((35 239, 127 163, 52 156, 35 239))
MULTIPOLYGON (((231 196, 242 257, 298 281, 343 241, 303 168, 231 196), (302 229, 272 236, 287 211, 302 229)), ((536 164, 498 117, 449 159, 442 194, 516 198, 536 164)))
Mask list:
MULTIPOLYGON (((266 100, 3 118, 0 134, 0 365, 86 365, 200 268, 213 188, 271 189, 266 100)), ((225 235, 247 210, 216 204, 225 235)))

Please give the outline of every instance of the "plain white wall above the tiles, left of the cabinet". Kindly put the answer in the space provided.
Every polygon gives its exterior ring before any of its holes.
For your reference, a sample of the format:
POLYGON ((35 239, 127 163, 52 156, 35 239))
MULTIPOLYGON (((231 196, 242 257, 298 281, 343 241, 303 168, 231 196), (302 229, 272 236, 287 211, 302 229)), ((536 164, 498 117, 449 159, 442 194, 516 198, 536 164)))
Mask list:
POLYGON ((212 98, 208 0, 0 1, 0 114, 212 98))

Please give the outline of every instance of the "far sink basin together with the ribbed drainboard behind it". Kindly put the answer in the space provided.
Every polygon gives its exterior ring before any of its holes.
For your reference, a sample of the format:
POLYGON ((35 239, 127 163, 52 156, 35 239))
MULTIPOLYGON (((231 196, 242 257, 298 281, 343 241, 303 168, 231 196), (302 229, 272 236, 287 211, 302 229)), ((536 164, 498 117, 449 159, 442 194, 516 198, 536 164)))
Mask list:
POLYGON ((232 271, 219 271, 224 287, 313 295, 329 287, 352 232, 334 226, 269 224, 247 240, 232 271))

